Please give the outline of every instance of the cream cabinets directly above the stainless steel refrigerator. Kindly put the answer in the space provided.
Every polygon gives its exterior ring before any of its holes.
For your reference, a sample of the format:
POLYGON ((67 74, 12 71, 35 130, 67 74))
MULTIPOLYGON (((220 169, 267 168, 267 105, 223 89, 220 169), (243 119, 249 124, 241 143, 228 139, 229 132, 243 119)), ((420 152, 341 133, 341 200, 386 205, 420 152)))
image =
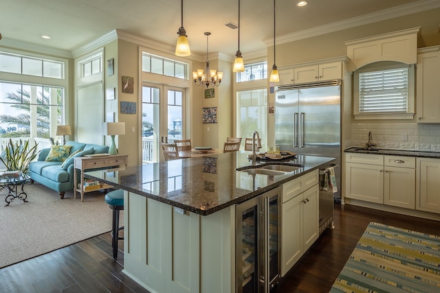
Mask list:
POLYGON ((330 62, 280 70, 280 84, 303 84, 342 78, 342 62, 330 62))

